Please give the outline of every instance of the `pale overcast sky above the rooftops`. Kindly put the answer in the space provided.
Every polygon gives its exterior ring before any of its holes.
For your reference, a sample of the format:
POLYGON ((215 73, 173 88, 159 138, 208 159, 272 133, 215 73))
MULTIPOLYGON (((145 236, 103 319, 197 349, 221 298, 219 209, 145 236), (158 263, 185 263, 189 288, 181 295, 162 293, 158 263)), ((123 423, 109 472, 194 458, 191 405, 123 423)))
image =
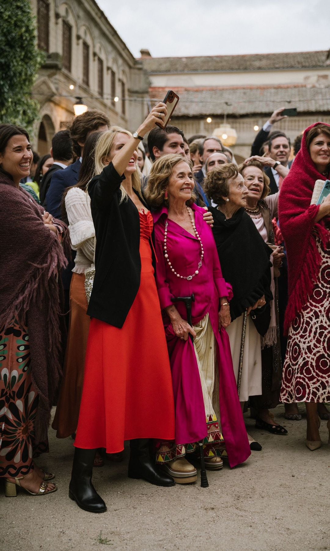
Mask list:
POLYGON ((330 48, 330 0, 97 0, 131 52, 153 57, 330 48))

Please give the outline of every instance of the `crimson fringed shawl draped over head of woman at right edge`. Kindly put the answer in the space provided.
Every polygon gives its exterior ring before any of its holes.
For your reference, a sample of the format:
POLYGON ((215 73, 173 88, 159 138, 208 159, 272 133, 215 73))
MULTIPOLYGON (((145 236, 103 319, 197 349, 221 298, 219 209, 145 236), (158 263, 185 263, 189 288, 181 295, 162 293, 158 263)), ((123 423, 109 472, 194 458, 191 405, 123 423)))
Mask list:
MULTIPOLYGON (((329 240, 329 232, 326 229, 329 218, 323 218, 315 224, 320 207, 310 204, 316 180, 325 180, 325 177, 316 170, 311 160, 306 146, 306 134, 311 128, 320 124, 324 125, 323 122, 316 122, 306 128, 301 149, 282 183, 279 194, 279 225, 287 249, 289 277, 289 300, 284 321, 285 334, 288 333, 294 318, 311 296, 320 272, 322 259, 317 249, 316 237, 321 240, 323 246, 326 246, 329 240)), ((326 126, 330 127, 330 125, 326 126)))

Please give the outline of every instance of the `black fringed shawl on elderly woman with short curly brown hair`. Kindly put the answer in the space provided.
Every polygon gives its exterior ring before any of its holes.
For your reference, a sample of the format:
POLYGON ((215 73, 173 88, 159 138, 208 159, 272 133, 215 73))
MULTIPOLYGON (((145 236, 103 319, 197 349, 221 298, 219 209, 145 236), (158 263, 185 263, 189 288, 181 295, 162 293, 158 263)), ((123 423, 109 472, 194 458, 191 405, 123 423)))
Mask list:
POLYGON ((259 231, 244 208, 240 208, 232 218, 226 217, 217 208, 210 208, 214 224, 219 260, 224 279, 233 286, 233 299, 230 301, 232 321, 239 317, 257 300, 265 295, 270 301, 272 250, 263 241, 259 231))

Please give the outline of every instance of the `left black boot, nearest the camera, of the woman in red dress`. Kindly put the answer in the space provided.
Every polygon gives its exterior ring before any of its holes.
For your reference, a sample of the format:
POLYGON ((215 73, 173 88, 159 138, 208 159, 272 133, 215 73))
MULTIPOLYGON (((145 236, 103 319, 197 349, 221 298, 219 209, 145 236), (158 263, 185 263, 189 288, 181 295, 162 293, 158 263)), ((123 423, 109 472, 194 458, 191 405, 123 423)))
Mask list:
POLYGON ((107 506, 92 485, 95 452, 96 450, 75 448, 69 498, 73 499, 84 511, 103 513, 107 510, 107 506))

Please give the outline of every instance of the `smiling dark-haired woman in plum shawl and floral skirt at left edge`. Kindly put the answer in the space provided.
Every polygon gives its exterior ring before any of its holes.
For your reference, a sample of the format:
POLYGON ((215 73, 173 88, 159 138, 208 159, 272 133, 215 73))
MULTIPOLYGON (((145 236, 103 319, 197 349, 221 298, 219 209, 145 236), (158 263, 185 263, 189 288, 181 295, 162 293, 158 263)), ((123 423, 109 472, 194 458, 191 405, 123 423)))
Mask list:
POLYGON ((29 134, 0 125, 0 477, 34 495, 56 490, 32 457, 48 451, 50 411, 61 374, 58 274, 68 229, 20 187, 33 155, 29 134), (61 245, 64 246, 63 247, 61 245))

